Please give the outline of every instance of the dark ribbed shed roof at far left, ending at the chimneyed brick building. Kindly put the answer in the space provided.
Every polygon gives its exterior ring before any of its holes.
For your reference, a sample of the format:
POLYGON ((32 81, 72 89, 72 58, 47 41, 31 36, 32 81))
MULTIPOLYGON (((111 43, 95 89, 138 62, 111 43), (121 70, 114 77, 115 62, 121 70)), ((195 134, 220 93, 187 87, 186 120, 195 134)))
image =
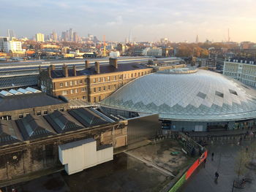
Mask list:
POLYGON ((38 82, 38 75, 0 77, 0 89, 35 86, 38 82))

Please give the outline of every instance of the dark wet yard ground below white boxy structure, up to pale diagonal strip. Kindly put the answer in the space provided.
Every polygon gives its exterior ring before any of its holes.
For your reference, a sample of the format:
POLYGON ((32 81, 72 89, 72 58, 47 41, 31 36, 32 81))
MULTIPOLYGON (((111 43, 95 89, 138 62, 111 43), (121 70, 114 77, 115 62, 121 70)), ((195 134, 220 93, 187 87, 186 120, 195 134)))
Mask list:
MULTIPOLYGON (((113 161, 86 169, 77 174, 58 172, 14 187, 18 192, 92 192, 92 191, 159 191, 170 176, 143 164, 125 153, 115 155, 113 161)), ((1 188, 5 192, 5 188, 1 188)), ((11 191, 12 186, 7 188, 11 191)))

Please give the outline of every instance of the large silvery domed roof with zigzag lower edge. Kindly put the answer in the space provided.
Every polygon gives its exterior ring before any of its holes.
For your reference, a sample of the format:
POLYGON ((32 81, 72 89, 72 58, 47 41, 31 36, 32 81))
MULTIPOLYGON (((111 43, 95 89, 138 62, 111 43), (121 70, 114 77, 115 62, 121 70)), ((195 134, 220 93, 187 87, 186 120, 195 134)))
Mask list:
POLYGON ((101 101, 104 107, 157 113, 170 120, 256 118, 256 91, 206 70, 159 72, 140 77, 101 101))

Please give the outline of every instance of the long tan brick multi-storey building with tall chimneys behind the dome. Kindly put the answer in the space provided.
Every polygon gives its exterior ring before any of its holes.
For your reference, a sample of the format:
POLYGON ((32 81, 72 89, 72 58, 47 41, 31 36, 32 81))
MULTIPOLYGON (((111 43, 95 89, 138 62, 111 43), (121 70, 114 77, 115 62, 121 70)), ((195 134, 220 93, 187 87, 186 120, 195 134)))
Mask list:
POLYGON ((53 96, 65 96, 67 99, 83 99, 98 102, 131 80, 152 72, 152 68, 140 64, 117 64, 116 58, 110 58, 109 65, 94 66, 86 61, 85 69, 76 70, 75 66, 56 70, 39 70, 39 86, 45 93, 53 96))

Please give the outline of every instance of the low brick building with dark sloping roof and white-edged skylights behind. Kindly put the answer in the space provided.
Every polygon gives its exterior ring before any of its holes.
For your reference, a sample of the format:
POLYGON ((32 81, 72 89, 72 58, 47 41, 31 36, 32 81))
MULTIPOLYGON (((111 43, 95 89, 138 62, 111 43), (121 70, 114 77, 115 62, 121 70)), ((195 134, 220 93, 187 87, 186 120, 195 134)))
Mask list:
POLYGON ((66 111, 67 101, 53 98, 33 88, 0 92, 0 119, 18 120, 27 115, 42 116, 56 110, 66 111), (30 91, 29 91, 30 90, 30 91))

